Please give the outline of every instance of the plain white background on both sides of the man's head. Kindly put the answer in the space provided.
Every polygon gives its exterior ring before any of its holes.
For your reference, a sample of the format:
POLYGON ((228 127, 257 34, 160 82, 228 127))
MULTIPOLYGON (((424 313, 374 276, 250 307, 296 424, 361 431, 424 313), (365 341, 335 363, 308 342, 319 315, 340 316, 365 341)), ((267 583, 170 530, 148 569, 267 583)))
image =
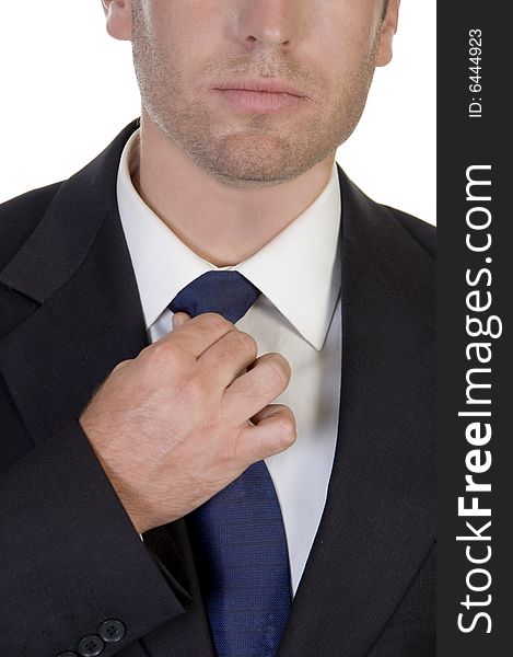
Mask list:
MULTIPOLYGON (((337 157, 374 199, 431 223, 435 5, 403 0, 394 60, 337 157)), ((107 36, 101 0, 4 1, 0 80, 0 201, 69 177, 140 113, 130 44, 107 36)))

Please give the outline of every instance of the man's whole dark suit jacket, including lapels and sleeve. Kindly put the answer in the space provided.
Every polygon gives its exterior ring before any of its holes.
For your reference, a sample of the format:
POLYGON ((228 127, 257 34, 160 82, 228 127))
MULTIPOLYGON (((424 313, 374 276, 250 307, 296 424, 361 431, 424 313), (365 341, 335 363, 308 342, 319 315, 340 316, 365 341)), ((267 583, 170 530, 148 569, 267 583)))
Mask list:
MULTIPOLYGON (((137 122, 70 180, 0 206, 0 655, 213 655, 186 520, 142 543, 77 418, 148 345, 116 204, 137 122)), ((326 508, 279 657, 431 657, 432 227, 340 171, 342 392, 326 508)))

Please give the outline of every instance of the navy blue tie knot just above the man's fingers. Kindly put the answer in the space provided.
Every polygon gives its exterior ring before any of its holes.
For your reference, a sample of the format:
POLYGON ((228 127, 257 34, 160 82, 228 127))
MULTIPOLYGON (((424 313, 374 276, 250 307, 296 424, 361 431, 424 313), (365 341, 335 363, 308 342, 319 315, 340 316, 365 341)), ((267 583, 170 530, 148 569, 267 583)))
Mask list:
POLYGON ((217 312, 235 323, 259 296, 260 290, 238 272, 207 272, 176 295, 170 310, 186 312, 193 318, 217 312))

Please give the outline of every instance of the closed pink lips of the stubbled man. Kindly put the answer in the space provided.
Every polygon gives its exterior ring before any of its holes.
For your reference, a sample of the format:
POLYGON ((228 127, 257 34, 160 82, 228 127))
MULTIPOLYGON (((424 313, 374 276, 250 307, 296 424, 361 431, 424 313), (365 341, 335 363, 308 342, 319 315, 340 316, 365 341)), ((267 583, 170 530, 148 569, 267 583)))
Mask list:
POLYGON ((277 79, 223 82, 212 91, 232 107, 259 114, 293 110, 307 100, 304 93, 277 79))

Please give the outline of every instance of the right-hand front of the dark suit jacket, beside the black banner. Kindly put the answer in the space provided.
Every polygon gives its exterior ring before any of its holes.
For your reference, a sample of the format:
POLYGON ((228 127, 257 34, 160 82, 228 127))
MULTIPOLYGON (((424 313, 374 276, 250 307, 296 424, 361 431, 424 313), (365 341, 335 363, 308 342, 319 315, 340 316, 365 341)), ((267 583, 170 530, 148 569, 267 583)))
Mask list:
POLYGON ((434 537, 431 258, 392 216, 382 241, 375 207, 340 175, 338 442, 280 657, 366 655, 434 537))

